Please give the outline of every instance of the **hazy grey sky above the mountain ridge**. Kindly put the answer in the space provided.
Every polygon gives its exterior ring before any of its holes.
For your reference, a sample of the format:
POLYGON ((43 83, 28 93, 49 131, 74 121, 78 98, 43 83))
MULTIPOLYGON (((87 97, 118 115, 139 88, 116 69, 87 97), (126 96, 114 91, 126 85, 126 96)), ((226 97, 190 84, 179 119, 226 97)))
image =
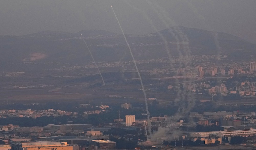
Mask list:
POLYGON ((0 35, 99 29, 148 34, 182 25, 256 43, 256 0, 1 0, 0 35))

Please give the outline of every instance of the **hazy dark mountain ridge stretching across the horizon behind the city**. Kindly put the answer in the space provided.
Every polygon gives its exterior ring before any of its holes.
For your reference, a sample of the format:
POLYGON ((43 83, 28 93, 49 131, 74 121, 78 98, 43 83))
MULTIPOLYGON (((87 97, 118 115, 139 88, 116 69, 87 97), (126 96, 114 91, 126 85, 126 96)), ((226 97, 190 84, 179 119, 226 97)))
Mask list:
MULTIPOLYGON (((131 60, 124 37, 104 30, 82 30, 77 33, 42 31, 23 36, 0 37, 0 62, 39 62, 86 64, 92 61, 81 34, 97 62, 131 60)), ((167 56, 227 54, 242 59, 255 53, 256 45, 237 36, 196 28, 175 26, 159 32, 127 35, 136 60, 167 56), (168 43, 168 49, 163 39, 168 43)))

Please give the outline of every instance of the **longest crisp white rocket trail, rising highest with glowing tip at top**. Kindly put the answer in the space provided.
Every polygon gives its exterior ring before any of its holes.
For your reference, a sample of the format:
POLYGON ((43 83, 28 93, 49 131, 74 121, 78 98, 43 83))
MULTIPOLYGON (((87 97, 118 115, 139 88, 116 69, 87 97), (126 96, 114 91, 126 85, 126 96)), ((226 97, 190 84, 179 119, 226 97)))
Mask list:
MULTIPOLYGON (((135 61, 134 56, 133 56, 133 54, 132 54, 132 50, 131 50, 131 48, 130 48, 130 45, 129 45, 127 39, 126 39, 126 36, 124 35, 124 31, 123 31, 123 29, 122 29, 122 27, 121 27, 121 25, 120 25, 120 23, 119 23, 119 21, 118 21, 118 18, 116 17, 115 11, 114 11, 112 5, 110 5, 110 6, 111 6, 111 8, 112 8, 112 10, 113 10, 113 12, 114 12, 115 18, 116 18, 116 20, 117 20, 117 22, 118 22, 118 24, 119 24, 119 27, 120 27, 120 29, 121 29, 121 31, 122 31, 122 33, 123 33, 124 39, 125 39, 126 44, 127 44, 128 48, 129 48, 129 51, 130 51, 131 56, 132 56, 132 59, 133 59, 133 63, 134 63, 134 65, 135 65, 136 71, 137 71, 137 73, 138 73, 138 76, 139 76, 139 79, 140 79, 140 82, 141 82, 142 91, 143 91, 143 94, 144 94, 144 99, 145 99, 145 105, 146 105, 146 111, 147 111, 147 120, 148 120, 148 122, 150 122, 150 118, 149 118, 149 117, 150 117, 150 114, 149 114, 149 111, 148 111, 148 104, 147 104, 147 94, 146 94, 146 91, 145 91, 145 88, 144 88, 144 85, 143 85, 143 82, 142 82, 142 79, 141 79, 141 74, 140 74, 140 72, 139 72, 139 69, 138 69, 138 67, 137 67, 136 61, 135 61)), ((149 138, 149 139, 150 139, 150 138, 149 138)))

